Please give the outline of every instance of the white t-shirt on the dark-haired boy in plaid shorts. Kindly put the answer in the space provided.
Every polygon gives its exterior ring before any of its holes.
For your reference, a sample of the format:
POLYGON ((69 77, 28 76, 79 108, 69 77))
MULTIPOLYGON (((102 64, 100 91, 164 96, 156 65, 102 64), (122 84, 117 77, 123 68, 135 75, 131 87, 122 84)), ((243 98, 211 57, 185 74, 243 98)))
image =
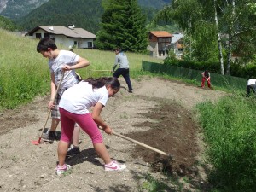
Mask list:
MULTIPOLYGON (((55 59, 49 59, 49 70, 51 73, 55 73, 55 84, 59 84, 62 76, 61 67, 63 65, 73 66, 79 61, 79 55, 76 55, 72 51, 60 50, 59 55, 55 59)), ((66 71, 64 78, 62 79, 60 89, 63 87, 71 87, 77 84, 76 74, 74 70, 66 71)))

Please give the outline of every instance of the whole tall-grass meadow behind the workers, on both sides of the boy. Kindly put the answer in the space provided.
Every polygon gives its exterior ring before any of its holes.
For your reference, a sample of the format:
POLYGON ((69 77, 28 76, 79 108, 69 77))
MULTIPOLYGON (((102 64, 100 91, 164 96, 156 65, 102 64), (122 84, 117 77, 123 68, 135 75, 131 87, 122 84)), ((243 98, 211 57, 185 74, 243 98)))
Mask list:
MULTIPOLYGON (((31 102, 35 96, 49 94, 48 59, 36 50, 38 39, 18 37, 0 30, 0 111, 17 108, 31 102)), ((67 49, 58 45, 59 49, 67 49)), ((97 49, 74 49, 78 55, 90 61, 90 66, 79 69, 84 78, 112 76, 110 72, 92 70, 111 70, 114 62, 113 51, 97 49)), ((161 62, 162 60, 135 53, 126 53, 130 61, 131 78, 143 74, 142 61, 161 62)))

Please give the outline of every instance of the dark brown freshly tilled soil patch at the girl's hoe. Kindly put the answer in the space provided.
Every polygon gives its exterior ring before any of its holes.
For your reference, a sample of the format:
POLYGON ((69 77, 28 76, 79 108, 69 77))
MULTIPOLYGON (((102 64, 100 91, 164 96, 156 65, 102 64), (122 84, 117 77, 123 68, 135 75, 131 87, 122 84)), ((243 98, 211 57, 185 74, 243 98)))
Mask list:
POLYGON ((148 131, 137 131, 126 136, 154 146, 171 157, 163 157, 154 151, 145 150, 137 145, 132 156, 141 156, 144 161, 152 165, 154 172, 166 172, 180 176, 196 174, 194 167, 199 152, 196 143, 198 126, 192 120, 188 109, 176 103, 160 102, 154 108, 149 108, 143 116, 153 119, 154 122, 145 121, 137 123, 136 127, 150 127, 148 131))

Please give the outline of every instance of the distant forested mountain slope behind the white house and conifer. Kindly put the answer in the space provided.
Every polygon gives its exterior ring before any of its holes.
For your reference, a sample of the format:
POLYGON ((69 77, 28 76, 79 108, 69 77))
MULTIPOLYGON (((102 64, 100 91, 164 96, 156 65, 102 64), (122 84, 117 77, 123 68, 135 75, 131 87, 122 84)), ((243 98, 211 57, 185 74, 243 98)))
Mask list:
MULTIPOLYGON (((148 20, 152 20, 154 14, 159 10, 155 7, 159 8, 164 4, 169 4, 164 0, 139 0, 138 3, 143 7, 143 13, 147 15, 148 20)), ((76 27, 96 33, 99 30, 102 14, 102 0, 69 0, 65 3, 62 0, 49 0, 15 21, 25 31, 39 25, 67 26, 74 24, 76 27)))

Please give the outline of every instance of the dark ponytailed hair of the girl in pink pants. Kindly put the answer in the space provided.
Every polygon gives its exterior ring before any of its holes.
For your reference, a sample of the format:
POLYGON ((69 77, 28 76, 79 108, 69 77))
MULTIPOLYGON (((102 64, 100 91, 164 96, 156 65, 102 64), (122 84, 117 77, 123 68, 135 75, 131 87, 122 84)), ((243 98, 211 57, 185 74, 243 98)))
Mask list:
POLYGON ((91 84, 92 89, 101 88, 104 85, 110 84, 111 88, 113 88, 114 90, 119 90, 121 86, 119 80, 114 77, 102 77, 98 79, 88 78, 88 79, 84 79, 84 81, 91 84))

